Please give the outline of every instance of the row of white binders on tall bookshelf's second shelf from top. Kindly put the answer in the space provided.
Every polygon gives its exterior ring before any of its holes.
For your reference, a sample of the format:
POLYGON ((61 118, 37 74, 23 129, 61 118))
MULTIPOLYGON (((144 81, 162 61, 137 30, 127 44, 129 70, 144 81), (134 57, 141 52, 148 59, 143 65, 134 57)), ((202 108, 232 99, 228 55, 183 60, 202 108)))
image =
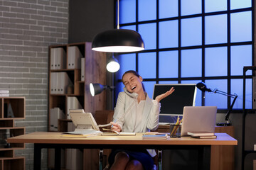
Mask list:
POLYGON ((66 72, 50 73, 50 94, 67 94, 68 86, 73 86, 73 82, 66 72))

